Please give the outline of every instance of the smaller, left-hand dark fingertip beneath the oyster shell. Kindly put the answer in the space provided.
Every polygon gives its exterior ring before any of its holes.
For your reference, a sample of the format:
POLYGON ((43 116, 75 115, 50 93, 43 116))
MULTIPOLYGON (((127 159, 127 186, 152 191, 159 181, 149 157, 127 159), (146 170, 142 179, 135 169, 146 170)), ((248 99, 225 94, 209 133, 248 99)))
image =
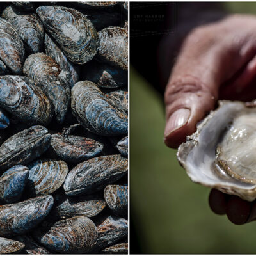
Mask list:
POLYGON ((216 214, 225 214, 227 210, 227 197, 228 195, 225 195, 221 191, 212 189, 209 195, 209 205, 211 210, 216 214))

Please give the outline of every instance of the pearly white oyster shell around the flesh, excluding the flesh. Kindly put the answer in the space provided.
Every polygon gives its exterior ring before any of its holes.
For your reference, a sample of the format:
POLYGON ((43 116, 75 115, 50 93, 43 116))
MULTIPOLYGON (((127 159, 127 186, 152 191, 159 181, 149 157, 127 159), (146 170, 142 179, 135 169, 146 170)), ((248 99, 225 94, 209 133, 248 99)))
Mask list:
MULTIPOLYGON (((193 182, 239 195, 246 200, 253 200, 256 195, 251 195, 252 191, 250 190, 256 188, 255 184, 246 184, 231 177, 223 179, 212 170, 212 163, 216 159, 216 146, 222 138, 225 127, 232 122, 232 118, 237 113, 244 112, 244 109, 249 108, 246 108, 243 102, 220 102, 220 108, 212 111, 198 125, 195 134, 190 136, 186 143, 180 145, 177 157, 193 182)), ((256 108, 253 109, 256 112, 256 108)), ((252 111, 252 108, 249 111, 252 111)))

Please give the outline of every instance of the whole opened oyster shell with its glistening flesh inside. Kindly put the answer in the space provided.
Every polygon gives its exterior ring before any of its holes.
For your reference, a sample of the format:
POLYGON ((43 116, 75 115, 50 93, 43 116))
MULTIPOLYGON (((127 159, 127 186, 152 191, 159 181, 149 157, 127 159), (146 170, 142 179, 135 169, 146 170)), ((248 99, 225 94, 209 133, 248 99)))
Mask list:
POLYGON ((177 152, 193 182, 256 198, 256 108, 223 100, 177 152))

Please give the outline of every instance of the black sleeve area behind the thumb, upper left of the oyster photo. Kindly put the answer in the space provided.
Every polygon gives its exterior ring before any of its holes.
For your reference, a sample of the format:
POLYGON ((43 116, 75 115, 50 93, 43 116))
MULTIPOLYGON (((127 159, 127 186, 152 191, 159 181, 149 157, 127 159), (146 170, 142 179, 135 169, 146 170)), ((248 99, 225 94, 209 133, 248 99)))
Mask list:
POLYGON ((131 65, 163 95, 189 31, 224 16, 222 3, 130 2, 131 65))

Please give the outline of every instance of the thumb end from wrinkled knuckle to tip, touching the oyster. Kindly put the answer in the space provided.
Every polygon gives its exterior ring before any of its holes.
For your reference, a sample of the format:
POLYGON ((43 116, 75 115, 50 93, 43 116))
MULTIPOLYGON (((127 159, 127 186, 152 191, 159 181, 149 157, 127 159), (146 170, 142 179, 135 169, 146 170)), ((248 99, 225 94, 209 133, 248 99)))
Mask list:
POLYGON ((164 143, 168 147, 179 147, 187 135, 196 131, 197 122, 214 109, 218 88, 207 89, 210 88, 201 81, 188 76, 178 84, 168 86, 164 130, 164 143))

